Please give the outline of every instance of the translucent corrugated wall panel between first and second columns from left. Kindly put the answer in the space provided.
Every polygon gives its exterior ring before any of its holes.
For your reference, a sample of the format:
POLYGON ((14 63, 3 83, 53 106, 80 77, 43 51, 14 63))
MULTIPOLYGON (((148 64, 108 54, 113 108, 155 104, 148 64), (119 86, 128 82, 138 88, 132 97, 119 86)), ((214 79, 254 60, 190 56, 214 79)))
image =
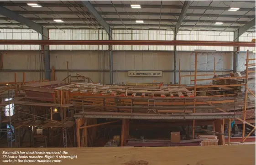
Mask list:
MULTIPOLYGON (((106 31, 86 29, 51 29, 51 40, 108 40, 106 31)), ((107 45, 50 45, 50 50, 107 50, 107 45)))

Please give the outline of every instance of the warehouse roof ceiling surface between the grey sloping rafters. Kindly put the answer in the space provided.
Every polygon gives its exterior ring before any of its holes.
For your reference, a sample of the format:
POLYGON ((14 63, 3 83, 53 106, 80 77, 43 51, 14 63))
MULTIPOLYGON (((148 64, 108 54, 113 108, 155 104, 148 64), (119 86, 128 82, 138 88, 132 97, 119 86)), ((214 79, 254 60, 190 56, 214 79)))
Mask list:
MULTIPOLYGON (((31 7, 26 4, 27 2, 25 0, 0 0, 0 5, 47 28, 102 28, 81 1, 31 1, 31 3, 42 5, 42 7, 31 7), (63 20, 64 23, 53 21, 56 18, 63 20)), ((104 21, 114 29, 174 30, 184 1, 91 0, 90 3, 104 21), (132 9, 131 4, 140 4, 141 9, 132 9), (136 20, 143 20, 144 23, 136 24, 136 20)), ((186 12, 180 29, 235 31, 253 20, 255 15, 255 1, 193 1, 186 12), (228 11, 230 7, 237 7, 240 10, 228 11), (214 25, 218 21, 223 22, 223 24, 214 25)), ((28 27, 0 15, 0 28, 28 27)), ((255 31, 255 27, 248 31, 255 31)))

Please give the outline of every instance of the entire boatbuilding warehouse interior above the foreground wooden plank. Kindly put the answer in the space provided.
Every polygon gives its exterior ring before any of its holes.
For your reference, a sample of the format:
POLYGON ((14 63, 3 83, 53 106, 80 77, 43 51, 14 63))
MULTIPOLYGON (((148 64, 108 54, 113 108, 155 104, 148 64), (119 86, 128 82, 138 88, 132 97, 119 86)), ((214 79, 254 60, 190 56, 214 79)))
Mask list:
POLYGON ((255 15, 251 0, 1 0, 0 147, 255 145, 255 15))

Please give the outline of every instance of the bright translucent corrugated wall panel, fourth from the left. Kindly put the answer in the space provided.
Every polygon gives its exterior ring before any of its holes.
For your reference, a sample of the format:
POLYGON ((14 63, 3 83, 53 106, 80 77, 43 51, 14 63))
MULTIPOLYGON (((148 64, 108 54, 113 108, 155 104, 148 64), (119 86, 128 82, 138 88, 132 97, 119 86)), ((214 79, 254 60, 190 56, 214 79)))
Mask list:
MULTIPOLYGON (((234 41, 234 32, 229 31, 179 31, 177 40, 187 41, 234 41)), ((177 51, 194 50, 233 51, 232 46, 177 46, 177 51)))

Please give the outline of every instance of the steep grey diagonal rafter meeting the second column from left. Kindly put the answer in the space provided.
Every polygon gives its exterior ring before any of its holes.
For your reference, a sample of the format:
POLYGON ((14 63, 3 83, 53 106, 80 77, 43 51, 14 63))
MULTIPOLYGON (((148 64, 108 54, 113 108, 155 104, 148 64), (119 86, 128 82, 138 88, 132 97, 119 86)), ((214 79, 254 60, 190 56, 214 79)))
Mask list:
POLYGON ((101 17, 101 15, 98 13, 98 11, 94 8, 94 6, 90 3, 89 0, 82 0, 81 1, 84 7, 86 7, 90 14, 94 16, 94 18, 99 22, 101 26, 105 29, 105 31, 110 35, 111 28, 107 24, 106 21, 101 17))

